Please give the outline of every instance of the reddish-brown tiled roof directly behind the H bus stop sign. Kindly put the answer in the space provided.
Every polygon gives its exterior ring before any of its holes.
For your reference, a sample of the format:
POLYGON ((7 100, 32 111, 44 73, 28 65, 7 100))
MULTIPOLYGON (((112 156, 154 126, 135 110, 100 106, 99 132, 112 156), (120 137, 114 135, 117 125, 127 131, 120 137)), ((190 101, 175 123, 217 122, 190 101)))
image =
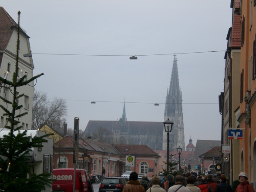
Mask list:
POLYGON ((151 148, 147 145, 114 145, 115 148, 121 152, 122 155, 141 155, 141 156, 157 156, 160 157, 157 153, 155 153, 151 148))

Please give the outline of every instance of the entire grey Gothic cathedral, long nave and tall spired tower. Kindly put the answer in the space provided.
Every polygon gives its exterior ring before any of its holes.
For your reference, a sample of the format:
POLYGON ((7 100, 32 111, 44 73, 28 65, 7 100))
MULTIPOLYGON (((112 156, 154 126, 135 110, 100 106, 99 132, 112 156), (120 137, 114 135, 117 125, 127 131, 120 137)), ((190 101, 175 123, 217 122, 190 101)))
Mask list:
MULTIPOLYGON (((169 146, 175 150, 180 146, 185 150, 182 94, 179 88, 176 56, 173 61, 170 87, 167 91, 164 121, 167 118, 174 122, 169 146)), ((163 122, 127 121, 125 104, 123 114, 118 121, 89 121, 85 134, 92 135, 97 128, 108 129, 111 132, 111 144, 114 145, 147 145, 153 150, 167 150, 167 134, 164 131, 163 122)))

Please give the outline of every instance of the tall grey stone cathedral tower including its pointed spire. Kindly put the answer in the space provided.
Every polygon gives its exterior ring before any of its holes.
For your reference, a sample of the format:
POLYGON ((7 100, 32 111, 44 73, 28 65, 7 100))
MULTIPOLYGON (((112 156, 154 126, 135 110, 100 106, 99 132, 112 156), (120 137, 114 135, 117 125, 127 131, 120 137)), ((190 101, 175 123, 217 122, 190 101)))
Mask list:
MULTIPOLYGON (((182 92, 179 88, 179 74, 176 55, 174 55, 172 65, 172 77, 169 90, 165 101, 164 121, 169 119, 172 121, 172 132, 169 135, 169 146, 172 151, 181 147, 185 151, 183 112, 182 112, 182 92)), ((167 150, 167 133, 163 131, 163 150, 167 150)))

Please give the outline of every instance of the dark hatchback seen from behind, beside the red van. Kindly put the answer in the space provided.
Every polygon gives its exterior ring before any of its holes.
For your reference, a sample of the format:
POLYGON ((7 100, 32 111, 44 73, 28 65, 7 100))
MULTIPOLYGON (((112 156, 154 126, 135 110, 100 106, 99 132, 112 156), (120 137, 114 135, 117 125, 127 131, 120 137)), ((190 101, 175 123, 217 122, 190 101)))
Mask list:
POLYGON ((122 177, 106 177, 101 182, 99 192, 122 192, 126 183, 122 177))

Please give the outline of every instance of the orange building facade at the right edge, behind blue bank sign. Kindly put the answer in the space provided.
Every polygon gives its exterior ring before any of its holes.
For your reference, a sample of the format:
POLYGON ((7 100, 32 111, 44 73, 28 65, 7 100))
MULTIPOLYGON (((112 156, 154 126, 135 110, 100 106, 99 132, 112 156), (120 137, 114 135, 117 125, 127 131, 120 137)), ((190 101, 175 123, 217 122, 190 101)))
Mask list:
MULTIPOLYGON (((256 188, 256 1, 231 0, 233 18, 239 17, 241 25, 241 52, 239 75, 240 79, 239 106, 231 108, 233 114, 232 128, 243 130, 243 139, 233 139, 231 145, 230 164, 233 180, 238 179, 239 172, 246 172, 249 182, 256 188), (234 114, 235 113, 235 114, 234 114), (239 145, 237 145, 239 143, 239 145), (237 146, 237 147, 234 147, 237 146), (239 148, 238 148, 239 147, 239 148)), ((228 51, 227 51, 228 52, 228 51)), ((237 60, 233 59, 233 62, 237 60)), ((237 77, 238 76, 238 77, 237 77)), ((230 100, 230 104, 237 101, 230 100)), ((236 105, 234 105, 236 106, 236 105)), ((225 139, 225 138, 223 138, 225 139)))

